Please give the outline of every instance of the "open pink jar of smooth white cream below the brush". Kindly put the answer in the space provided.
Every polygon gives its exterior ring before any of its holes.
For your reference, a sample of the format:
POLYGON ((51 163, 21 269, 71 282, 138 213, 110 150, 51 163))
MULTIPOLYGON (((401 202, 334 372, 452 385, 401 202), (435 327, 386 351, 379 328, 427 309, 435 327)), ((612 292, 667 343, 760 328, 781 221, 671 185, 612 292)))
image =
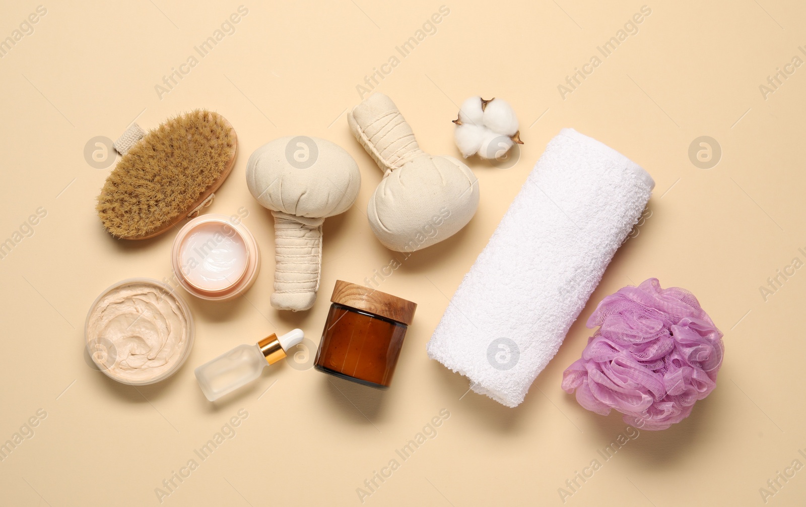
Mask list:
POLYGON ((245 293, 260 271, 260 249, 239 220, 206 214, 187 222, 173 240, 173 272, 193 296, 211 301, 245 293))

